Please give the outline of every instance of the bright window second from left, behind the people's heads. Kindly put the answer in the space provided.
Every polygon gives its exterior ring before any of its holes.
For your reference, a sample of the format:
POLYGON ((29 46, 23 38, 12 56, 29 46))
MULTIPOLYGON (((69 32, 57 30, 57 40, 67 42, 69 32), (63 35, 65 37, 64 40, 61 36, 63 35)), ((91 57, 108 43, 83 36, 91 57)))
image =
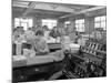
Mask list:
POLYGON ((53 27, 57 27, 57 20, 43 19, 42 27, 43 25, 47 25, 51 30, 51 29, 53 29, 53 27))

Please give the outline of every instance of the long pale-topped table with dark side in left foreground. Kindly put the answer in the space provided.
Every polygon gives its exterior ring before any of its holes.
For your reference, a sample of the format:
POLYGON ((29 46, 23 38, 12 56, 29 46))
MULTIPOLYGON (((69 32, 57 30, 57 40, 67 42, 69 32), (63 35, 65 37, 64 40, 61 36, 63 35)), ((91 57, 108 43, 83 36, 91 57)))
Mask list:
MULTIPOLYGON (((56 56, 56 53, 38 55, 33 58, 21 58, 12 63, 12 81, 30 82, 50 80, 51 75, 63 69, 64 56, 56 56)), ((51 77, 52 79, 52 77, 51 77)))

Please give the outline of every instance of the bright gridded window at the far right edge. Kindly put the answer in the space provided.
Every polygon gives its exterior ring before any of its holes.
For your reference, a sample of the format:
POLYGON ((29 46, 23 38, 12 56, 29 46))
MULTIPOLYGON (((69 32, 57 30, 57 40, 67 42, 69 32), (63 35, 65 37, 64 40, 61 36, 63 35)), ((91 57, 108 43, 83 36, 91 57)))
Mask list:
POLYGON ((94 28, 102 28, 103 30, 107 30, 107 17, 95 17, 94 18, 94 28))

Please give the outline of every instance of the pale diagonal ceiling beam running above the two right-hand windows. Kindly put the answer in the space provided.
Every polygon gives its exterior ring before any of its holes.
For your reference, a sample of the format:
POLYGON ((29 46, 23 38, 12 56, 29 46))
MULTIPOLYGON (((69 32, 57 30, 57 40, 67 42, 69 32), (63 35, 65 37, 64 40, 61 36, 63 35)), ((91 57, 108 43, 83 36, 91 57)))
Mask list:
POLYGON ((100 9, 105 9, 105 8, 107 7, 93 7, 93 8, 90 8, 90 9, 81 10, 81 11, 75 12, 75 13, 62 15, 59 19, 64 19, 64 18, 68 18, 68 17, 73 17, 73 15, 77 15, 77 14, 88 13, 88 12, 91 12, 91 11, 95 11, 95 10, 100 10, 100 9))

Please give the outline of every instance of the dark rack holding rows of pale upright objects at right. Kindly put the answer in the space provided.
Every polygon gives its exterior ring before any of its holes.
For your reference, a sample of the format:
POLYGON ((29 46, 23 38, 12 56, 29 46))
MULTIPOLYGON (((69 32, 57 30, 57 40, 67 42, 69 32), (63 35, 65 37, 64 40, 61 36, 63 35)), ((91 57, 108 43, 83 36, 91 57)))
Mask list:
POLYGON ((99 41, 87 41, 85 45, 81 48, 82 52, 95 58, 104 59, 107 55, 105 43, 99 43, 99 41))

